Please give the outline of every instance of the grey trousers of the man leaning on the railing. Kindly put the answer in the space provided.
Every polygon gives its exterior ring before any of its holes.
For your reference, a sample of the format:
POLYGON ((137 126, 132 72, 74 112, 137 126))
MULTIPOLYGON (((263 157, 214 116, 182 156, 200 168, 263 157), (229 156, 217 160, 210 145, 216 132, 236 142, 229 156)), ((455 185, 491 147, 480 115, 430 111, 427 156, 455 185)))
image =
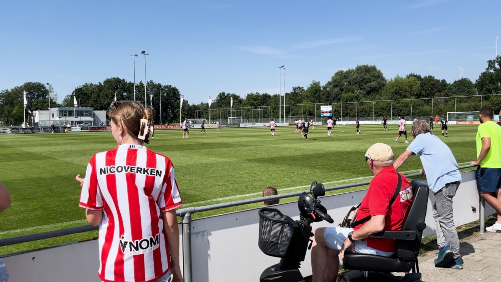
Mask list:
POLYGON ((452 197, 456 194, 459 183, 445 184, 442 189, 434 194, 435 203, 433 204, 433 218, 435 218, 438 247, 449 246, 454 253, 454 259, 461 257, 461 254, 459 254, 459 238, 452 217, 452 197))

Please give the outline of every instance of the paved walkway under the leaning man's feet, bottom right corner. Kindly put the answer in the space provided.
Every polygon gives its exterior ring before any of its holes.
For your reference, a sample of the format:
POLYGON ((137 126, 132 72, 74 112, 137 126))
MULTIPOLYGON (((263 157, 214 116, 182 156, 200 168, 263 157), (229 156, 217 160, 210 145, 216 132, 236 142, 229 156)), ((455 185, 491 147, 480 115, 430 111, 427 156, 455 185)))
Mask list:
POLYGON ((501 281, 501 233, 485 232, 461 240, 464 260, 461 270, 436 268, 436 251, 419 257, 419 270, 425 282, 501 281))

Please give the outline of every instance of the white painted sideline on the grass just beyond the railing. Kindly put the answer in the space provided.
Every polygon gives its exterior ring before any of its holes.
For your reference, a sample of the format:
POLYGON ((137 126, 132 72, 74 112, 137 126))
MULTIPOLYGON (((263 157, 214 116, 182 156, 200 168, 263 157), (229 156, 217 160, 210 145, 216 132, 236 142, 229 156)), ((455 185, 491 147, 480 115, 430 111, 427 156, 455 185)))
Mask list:
MULTIPOLYGON (((469 164, 469 162, 459 163, 458 165, 463 165, 463 164, 469 164)), ((418 170, 419 169, 400 171, 400 173, 409 173, 409 172, 418 171, 418 170)), ((353 180, 362 180, 362 179, 367 179, 367 178, 372 178, 372 176, 364 176, 364 177, 356 177, 356 178, 351 178, 351 179, 344 179, 344 180, 336 180, 336 181, 330 181, 330 182, 323 182, 323 184, 333 184, 333 183, 347 182, 347 181, 353 181, 353 180)), ((287 191, 287 190, 293 190, 293 189, 304 188, 304 187, 310 187, 310 185, 295 186, 295 187, 282 188, 282 189, 277 189, 277 190, 278 191, 287 191)), ((248 194, 243 194, 243 195, 229 196, 229 197, 223 197, 223 198, 217 198, 217 199, 211 199, 211 200, 204 200, 204 201, 199 201, 199 202, 193 202, 193 203, 189 203, 189 204, 184 204, 183 206, 193 206, 193 205, 196 205, 196 204, 203 204, 203 203, 208 203, 208 202, 213 202, 213 201, 222 201, 222 200, 229 200, 229 199, 240 198, 240 197, 261 195, 262 193, 263 192, 256 192, 256 193, 248 193, 248 194)), ((23 231, 33 231, 33 230, 37 230, 37 229, 45 229, 45 228, 50 228, 50 227, 58 227, 58 226, 64 226, 64 225, 68 225, 68 224, 81 223, 81 222, 87 222, 87 220, 86 219, 80 219, 80 220, 74 220, 74 221, 67 221, 67 222, 61 222, 61 223, 54 223, 54 224, 40 225, 40 226, 35 226, 35 227, 28 227, 28 228, 23 228, 23 229, 7 230, 7 231, 0 232, 0 235, 18 233, 18 232, 23 232, 23 231)))

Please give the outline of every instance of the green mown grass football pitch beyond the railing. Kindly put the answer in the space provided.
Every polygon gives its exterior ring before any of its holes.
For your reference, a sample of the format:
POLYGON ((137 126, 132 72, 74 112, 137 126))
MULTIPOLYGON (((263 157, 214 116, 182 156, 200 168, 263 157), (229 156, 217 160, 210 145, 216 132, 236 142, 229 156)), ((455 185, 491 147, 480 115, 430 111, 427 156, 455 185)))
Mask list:
MULTIPOLYGON (((325 126, 317 126, 310 129, 309 141, 294 131, 294 127, 279 127, 272 137, 269 128, 207 129, 204 134, 193 129, 189 139, 182 139, 180 130, 158 130, 148 147, 167 155, 174 163, 186 207, 257 197, 269 185, 280 191, 309 186, 312 181, 336 181, 326 185, 329 186, 346 183, 343 180, 347 179, 347 182, 368 180, 370 172, 364 161, 368 147, 383 142, 398 156, 408 145, 403 143, 403 136, 395 144, 396 125, 389 126, 387 131, 382 126, 362 125, 361 134, 356 134, 354 126, 338 126, 331 137, 327 137, 325 126), (354 179, 360 177, 367 178, 354 179)), ((433 133, 441 136, 439 130, 433 133)), ((475 133, 476 126, 452 126, 449 137, 442 139, 458 163, 475 159, 475 133)), ((11 207, 0 214, 0 238, 87 224, 84 210, 78 206, 80 185, 75 176, 85 173, 92 155, 115 146, 110 132, 0 135, 0 181, 12 196, 11 207)), ((419 158, 412 157, 400 171, 419 168, 419 158)), ((96 235, 97 232, 88 232, 24 243, 3 247, 0 253, 96 235)))

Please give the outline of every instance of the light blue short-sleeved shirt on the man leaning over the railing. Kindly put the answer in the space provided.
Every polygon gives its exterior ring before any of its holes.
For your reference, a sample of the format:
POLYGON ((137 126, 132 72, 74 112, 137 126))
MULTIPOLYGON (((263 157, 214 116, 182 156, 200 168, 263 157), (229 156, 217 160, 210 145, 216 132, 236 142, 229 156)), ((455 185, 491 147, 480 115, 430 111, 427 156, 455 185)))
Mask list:
POLYGON ((413 155, 419 155, 431 192, 435 194, 445 184, 461 181, 459 166, 449 147, 431 133, 419 134, 407 147, 413 155))

